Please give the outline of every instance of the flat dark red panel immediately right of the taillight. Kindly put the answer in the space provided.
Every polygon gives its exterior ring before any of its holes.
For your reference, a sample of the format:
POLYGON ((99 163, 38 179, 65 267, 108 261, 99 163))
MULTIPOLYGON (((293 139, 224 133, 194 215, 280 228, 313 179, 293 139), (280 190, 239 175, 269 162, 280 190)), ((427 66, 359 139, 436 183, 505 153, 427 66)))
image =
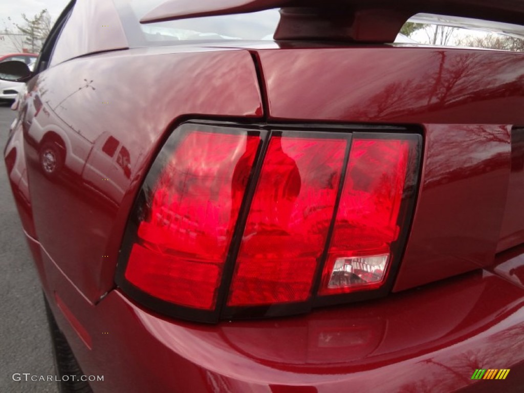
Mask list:
POLYGON ((425 130, 422 185, 395 290, 491 265, 500 237, 509 127, 426 125, 425 130))

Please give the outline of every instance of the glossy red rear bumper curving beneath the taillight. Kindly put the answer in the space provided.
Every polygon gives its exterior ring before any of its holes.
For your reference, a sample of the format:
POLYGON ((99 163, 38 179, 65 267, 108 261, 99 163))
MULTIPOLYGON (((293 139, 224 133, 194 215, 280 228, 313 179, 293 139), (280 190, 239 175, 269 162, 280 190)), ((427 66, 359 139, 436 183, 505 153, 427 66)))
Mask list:
POLYGON ((510 368, 499 391, 524 383, 524 289, 488 272, 294 318, 210 326, 151 314, 118 290, 93 306, 46 266, 92 334, 89 350, 56 313, 82 368, 105 376, 95 391, 491 391, 483 384, 493 381, 471 380, 476 368, 510 368))

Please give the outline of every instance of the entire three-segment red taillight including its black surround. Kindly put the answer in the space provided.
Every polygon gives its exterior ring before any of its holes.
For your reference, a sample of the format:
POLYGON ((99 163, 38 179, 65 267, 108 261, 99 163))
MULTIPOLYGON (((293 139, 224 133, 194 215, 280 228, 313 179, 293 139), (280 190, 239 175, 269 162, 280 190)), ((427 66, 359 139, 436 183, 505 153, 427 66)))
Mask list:
POLYGON ((421 137, 335 130, 178 127, 135 202, 118 285, 152 309, 206 322, 388 291, 421 137))

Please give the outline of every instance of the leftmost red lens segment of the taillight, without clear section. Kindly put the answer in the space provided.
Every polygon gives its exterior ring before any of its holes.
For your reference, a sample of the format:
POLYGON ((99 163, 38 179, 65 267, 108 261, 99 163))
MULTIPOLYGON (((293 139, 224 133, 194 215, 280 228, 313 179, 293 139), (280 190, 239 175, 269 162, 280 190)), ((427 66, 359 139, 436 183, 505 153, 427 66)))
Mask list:
POLYGON ((125 278, 150 296, 211 310, 260 138, 182 138, 150 190, 125 278))

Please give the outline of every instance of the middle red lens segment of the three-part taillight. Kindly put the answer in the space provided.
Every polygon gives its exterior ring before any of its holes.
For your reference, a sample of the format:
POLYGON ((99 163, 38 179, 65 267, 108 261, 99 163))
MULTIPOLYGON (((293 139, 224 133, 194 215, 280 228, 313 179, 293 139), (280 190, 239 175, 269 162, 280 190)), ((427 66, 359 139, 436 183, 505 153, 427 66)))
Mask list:
POLYGON ((229 306, 297 302, 311 295, 333 217, 346 140, 296 134, 287 132, 269 142, 229 306))

